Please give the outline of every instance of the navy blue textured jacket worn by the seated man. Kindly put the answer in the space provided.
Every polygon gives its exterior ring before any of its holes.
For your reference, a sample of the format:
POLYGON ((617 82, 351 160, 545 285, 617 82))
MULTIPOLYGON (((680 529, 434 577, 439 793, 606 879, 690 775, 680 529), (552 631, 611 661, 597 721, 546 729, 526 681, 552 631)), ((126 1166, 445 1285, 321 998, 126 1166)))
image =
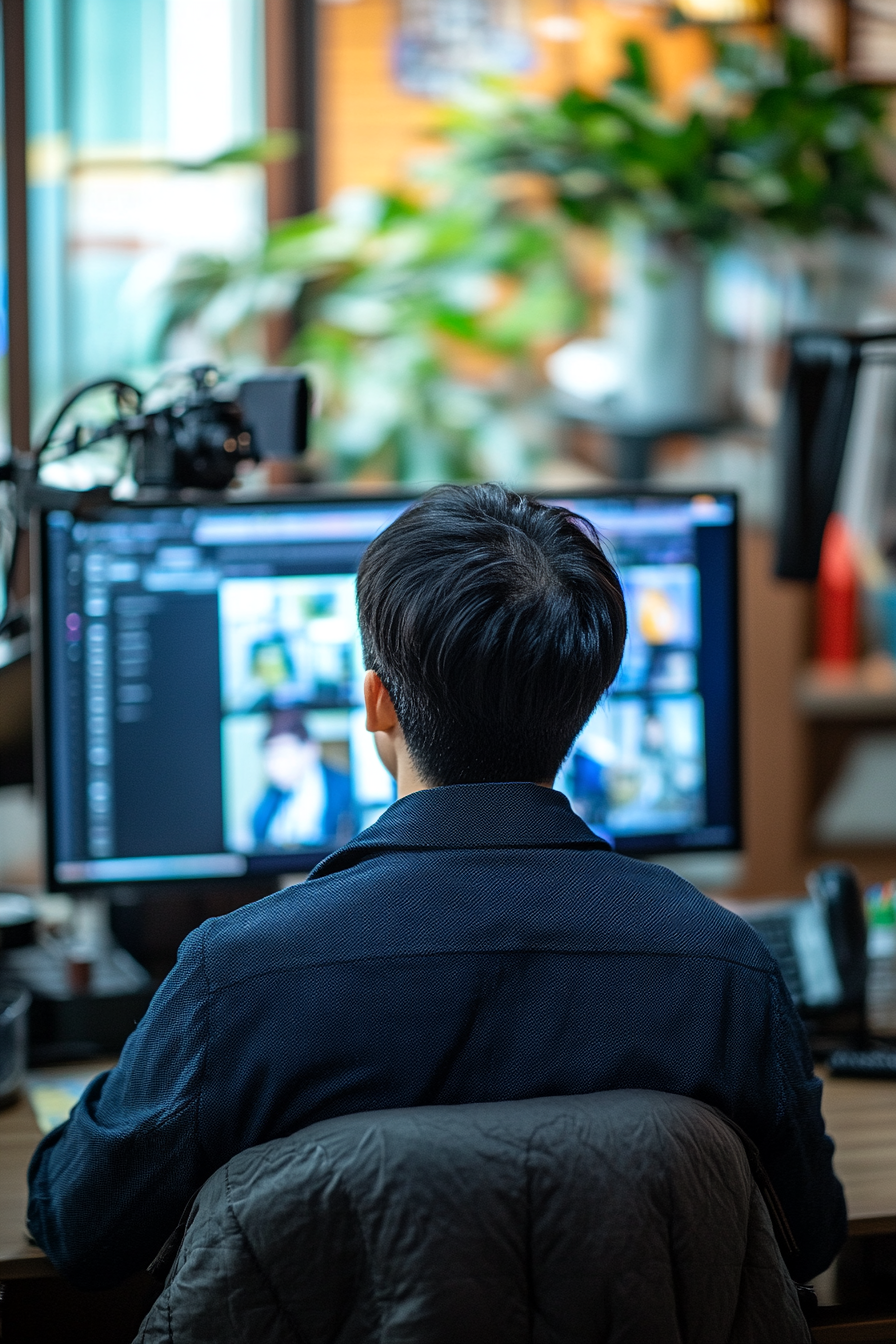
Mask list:
POLYGON ((38 1148, 28 1224, 85 1288, 144 1267, 235 1153, 360 1110, 653 1087, 759 1145, 811 1275, 845 1235, 764 943, 551 789, 414 793, 183 943, 120 1064, 38 1148))

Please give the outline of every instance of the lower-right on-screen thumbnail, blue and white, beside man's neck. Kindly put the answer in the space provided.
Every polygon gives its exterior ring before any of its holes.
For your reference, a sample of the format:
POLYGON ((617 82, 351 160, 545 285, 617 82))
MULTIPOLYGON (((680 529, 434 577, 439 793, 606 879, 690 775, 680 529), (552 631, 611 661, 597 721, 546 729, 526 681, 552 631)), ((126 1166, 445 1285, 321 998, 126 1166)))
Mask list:
POLYGON ((618 696, 598 706, 557 788, 598 832, 664 835, 703 825, 701 698, 618 696))

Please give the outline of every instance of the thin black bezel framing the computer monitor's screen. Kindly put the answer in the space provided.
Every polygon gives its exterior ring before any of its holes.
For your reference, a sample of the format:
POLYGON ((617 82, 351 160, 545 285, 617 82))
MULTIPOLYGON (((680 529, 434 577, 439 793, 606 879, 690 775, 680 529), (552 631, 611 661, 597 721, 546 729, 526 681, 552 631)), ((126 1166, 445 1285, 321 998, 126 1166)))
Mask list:
MULTIPOLYGON (((195 491, 183 493, 163 493, 153 492, 150 497, 133 499, 133 500, 114 500, 107 492, 89 492, 82 496, 73 497, 66 495, 64 501, 60 500, 59 504, 44 504, 39 509, 35 509, 31 519, 31 564, 32 564, 32 601, 35 602, 38 610, 32 612, 32 677, 34 677, 34 753, 35 753, 35 792, 39 801, 40 812, 40 843, 42 843, 42 860, 43 860, 43 878, 44 888, 52 892, 64 892, 69 895, 87 895, 87 894, 105 894, 111 895, 116 888, 126 887, 129 891, 138 890, 141 892, 172 890, 175 886, 185 886, 191 890, 193 888, 226 888, 228 891, 236 892, 240 887, 247 891, 251 890, 253 899, 258 894, 259 882, 263 883, 267 874, 274 879, 282 876, 298 876, 310 872, 312 868, 325 859, 332 849, 320 851, 304 851, 297 852, 294 856, 285 855, 266 855, 254 856, 269 859, 267 863, 253 866, 253 868, 242 875, 232 876, 216 876, 216 878, 154 878, 154 879, 113 879, 106 882, 97 880, 62 880, 56 876, 56 856, 55 856, 55 824, 54 824, 54 800, 55 800, 55 780, 52 773, 52 751, 50 742, 50 724, 51 719, 51 684, 48 669, 46 667, 46 649, 48 648, 48 620, 50 620, 50 602, 47 585, 50 581, 50 570, 46 560, 47 556, 47 527, 48 516, 56 509, 64 509, 73 513, 77 519, 91 520, 98 519, 101 515, 107 513, 110 509, 116 511, 133 511, 145 512, 161 508, 196 508, 196 509, 258 509, 258 508, 275 508, 275 507, 293 507, 296 504, 340 504, 340 505, 356 505, 365 507, 371 504, 390 504, 390 503, 412 503, 424 493, 423 489, 411 489, 402 487, 390 487, 382 491, 379 489, 339 489, 333 487, 301 487, 296 489, 278 489, 275 493, 266 495, 246 495, 244 497, 228 497, 222 495, 211 495, 203 492, 201 495, 195 491), (290 863, 294 859, 294 863, 290 863)), ((650 859, 658 855, 686 855, 686 853, 731 853, 737 852, 743 847, 743 780, 742 780, 742 724, 740 724, 740 519, 739 519, 739 500, 736 491, 731 489, 664 489, 656 485, 639 485, 638 482, 621 482, 619 487, 614 487, 611 482, 606 485, 594 485, 591 488, 578 487, 576 489, 525 489, 523 493, 532 496, 533 499, 544 500, 545 503, 575 503, 576 500, 596 500, 596 499, 664 499, 664 500, 681 500, 693 501, 695 497, 700 495, 711 495, 713 499, 725 500, 732 508, 732 521, 725 524, 725 528, 731 536, 731 555, 729 555, 729 599, 731 609, 733 612, 733 620, 731 621, 731 642, 729 649, 731 668, 732 668, 732 695, 731 695, 731 722, 728 724, 731 753, 732 753, 732 800, 733 800, 733 814, 731 821, 732 836, 731 840, 724 844, 674 844, 673 837, 669 833, 657 837, 643 837, 643 844, 630 845, 625 840, 618 844, 618 851, 621 853, 630 855, 631 857, 650 859)), ((271 886, 270 890, 277 890, 271 886)))

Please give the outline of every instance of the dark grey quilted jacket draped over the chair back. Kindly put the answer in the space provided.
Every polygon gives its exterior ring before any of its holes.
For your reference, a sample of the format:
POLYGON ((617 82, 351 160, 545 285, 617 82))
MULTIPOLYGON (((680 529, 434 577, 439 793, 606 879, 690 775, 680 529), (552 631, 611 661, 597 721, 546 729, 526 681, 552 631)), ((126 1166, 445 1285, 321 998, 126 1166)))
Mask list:
POLYGON ((809 1344, 744 1148, 649 1091, 326 1120, 204 1185, 137 1344, 809 1344))

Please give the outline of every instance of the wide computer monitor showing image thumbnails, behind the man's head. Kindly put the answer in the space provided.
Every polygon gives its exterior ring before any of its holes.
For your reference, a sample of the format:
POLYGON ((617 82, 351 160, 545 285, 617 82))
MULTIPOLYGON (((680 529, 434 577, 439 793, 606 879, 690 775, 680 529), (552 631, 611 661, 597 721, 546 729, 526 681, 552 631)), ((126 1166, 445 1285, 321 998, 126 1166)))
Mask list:
MULTIPOLYGON (((733 497, 553 499, 603 536, 630 618, 557 788, 622 851, 736 848, 733 497)), ((54 890, 305 872, 380 816, 395 786, 364 728, 355 575, 410 503, 42 516, 54 890)))

